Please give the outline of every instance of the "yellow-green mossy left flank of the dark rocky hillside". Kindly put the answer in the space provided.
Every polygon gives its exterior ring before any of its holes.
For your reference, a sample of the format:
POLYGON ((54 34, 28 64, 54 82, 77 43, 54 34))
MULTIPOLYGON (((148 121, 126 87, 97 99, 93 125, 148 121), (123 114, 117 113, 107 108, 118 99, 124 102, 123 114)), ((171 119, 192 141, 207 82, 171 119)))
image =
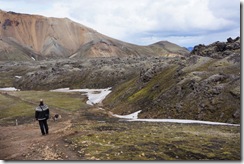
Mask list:
MULTIPOLYGON (((135 77, 115 87, 105 99, 104 104, 110 111, 117 114, 129 114, 142 108, 145 110, 145 108, 152 107, 152 103, 157 101, 162 93, 176 84, 174 76, 177 68, 178 65, 170 65, 147 83, 142 83, 139 76, 135 77)), ((160 111, 158 107, 154 106, 154 108, 157 110, 150 110, 150 112, 155 114, 160 111)), ((147 116, 151 117, 151 114, 147 113, 147 116)))

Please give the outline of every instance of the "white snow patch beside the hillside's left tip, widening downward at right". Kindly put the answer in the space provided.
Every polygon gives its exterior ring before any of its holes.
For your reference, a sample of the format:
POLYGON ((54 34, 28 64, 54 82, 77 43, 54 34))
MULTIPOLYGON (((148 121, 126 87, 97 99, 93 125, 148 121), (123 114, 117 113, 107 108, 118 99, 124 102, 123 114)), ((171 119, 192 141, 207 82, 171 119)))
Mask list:
POLYGON ((89 105, 94 105, 101 103, 106 96, 112 92, 111 87, 105 88, 105 89, 72 89, 70 90, 69 88, 60 88, 60 89, 55 89, 51 90, 52 92, 81 92, 83 95, 86 95, 88 100, 87 104, 89 105))

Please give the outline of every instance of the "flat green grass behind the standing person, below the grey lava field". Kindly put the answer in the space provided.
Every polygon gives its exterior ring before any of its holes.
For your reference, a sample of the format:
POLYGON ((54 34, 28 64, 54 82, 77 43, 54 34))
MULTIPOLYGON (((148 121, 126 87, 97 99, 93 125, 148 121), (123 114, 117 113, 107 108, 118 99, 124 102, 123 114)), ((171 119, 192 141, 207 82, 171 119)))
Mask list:
POLYGON ((40 99, 49 106, 50 112, 56 108, 64 112, 87 109, 86 97, 81 93, 59 93, 49 91, 16 91, 0 94, 0 124, 13 124, 18 119, 20 124, 34 119, 36 106, 40 99))

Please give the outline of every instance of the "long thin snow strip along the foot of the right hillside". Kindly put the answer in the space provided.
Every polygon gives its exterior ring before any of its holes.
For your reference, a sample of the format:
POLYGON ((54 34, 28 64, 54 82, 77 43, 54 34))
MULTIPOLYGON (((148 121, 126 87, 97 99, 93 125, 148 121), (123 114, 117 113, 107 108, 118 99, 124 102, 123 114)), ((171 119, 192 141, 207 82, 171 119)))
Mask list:
POLYGON ((198 120, 182 120, 182 119, 138 119, 138 114, 141 110, 129 114, 129 115, 117 115, 113 114, 114 117, 127 119, 126 121, 142 121, 142 122, 170 122, 170 123, 182 123, 182 124, 208 124, 208 125, 227 125, 227 126, 240 126, 239 124, 228 124, 222 122, 211 122, 211 121, 198 121, 198 120))

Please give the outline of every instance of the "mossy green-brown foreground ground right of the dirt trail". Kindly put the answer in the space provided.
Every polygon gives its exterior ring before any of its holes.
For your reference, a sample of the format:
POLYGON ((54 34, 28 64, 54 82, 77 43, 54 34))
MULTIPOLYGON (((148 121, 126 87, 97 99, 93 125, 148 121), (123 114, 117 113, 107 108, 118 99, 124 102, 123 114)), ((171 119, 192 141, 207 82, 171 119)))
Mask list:
POLYGON ((70 143, 88 160, 240 159, 238 127, 93 122, 76 131, 70 143))

